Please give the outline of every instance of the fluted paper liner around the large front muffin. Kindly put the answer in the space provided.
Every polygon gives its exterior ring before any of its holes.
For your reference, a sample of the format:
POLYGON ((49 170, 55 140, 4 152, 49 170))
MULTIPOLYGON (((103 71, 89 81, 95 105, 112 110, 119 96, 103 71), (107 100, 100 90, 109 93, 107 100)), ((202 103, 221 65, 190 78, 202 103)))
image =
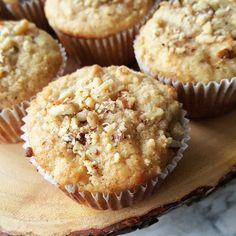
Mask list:
POLYGON ((152 195, 159 185, 165 180, 165 178, 175 169, 178 162, 182 159, 184 151, 188 147, 189 137, 189 120, 185 118, 186 111, 182 111, 182 124, 184 127, 184 135, 181 140, 181 147, 176 152, 171 163, 169 163, 165 169, 154 178, 150 179, 148 182, 136 186, 133 189, 127 189, 121 192, 114 193, 101 193, 101 192, 88 192, 88 191, 77 191, 76 187, 73 185, 66 185, 65 189, 60 187, 59 184, 54 180, 53 176, 46 172, 40 165, 36 162, 35 158, 32 156, 32 149, 29 145, 28 135, 27 135, 27 116, 23 119, 25 125, 22 126, 22 139, 24 140, 23 148, 26 150, 26 156, 30 157, 30 162, 37 168, 37 171, 51 184, 60 188, 66 195, 74 199, 79 204, 87 205, 89 207, 98 210, 119 210, 124 207, 129 207, 146 197, 152 195))

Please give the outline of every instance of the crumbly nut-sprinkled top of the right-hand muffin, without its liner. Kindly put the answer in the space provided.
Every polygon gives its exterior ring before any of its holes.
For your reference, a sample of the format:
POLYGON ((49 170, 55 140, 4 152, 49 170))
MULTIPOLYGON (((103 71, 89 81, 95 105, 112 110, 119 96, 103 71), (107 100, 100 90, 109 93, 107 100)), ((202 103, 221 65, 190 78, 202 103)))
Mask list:
POLYGON ((139 64, 153 76, 230 79, 236 75, 236 1, 162 2, 134 47, 139 64))

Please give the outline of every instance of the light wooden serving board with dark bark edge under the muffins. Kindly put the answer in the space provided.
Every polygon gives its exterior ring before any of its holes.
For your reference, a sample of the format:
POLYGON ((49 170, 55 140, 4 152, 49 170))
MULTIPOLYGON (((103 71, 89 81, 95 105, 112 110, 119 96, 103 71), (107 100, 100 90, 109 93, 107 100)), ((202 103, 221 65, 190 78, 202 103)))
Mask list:
MULTIPOLYGON (((133 207, 98 211, 47 183, 21 145, 0 145, 2 235, 106 235, 144 227, 186 201, 206 196, 236 174, 236 110, 191 122, 183 160, 156 194, 133 207)), ((1 233, 0 233, 1 234, 1 233)))

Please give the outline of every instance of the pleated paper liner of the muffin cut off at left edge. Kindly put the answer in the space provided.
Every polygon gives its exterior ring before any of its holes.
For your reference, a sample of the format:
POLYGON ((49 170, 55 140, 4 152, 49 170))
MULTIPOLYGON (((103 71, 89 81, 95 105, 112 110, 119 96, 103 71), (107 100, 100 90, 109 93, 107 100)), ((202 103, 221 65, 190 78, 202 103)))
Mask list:
MULTIPOLYGON (((67 56, 63 46, 58 43, 62 55, 62 64, 55 78, 63 75, 67 56)), ((26 115, 26 109, 29 101, 23 101, 12 108, 0 109, 0 144, 1 143, 18 143, 21 140, 21 127, 23 125, 22 118, 26 115)))

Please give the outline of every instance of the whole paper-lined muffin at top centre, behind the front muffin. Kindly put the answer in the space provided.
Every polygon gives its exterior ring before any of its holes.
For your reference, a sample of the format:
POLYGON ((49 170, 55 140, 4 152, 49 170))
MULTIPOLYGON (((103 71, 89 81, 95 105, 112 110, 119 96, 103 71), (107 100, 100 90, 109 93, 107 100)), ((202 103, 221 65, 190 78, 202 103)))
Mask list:
POLYGON ((156 5, 154 0, 47 0, 45 12, 79 64, 127 65, 134 60, 135 34, 156 5))

